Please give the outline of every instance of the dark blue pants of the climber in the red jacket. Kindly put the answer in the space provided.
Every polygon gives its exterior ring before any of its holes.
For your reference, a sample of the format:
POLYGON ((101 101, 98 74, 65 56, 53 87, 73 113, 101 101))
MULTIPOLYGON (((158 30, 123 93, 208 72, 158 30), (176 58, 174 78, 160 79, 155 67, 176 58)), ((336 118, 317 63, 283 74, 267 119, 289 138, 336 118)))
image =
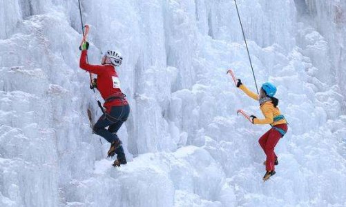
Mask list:
MULTIPOLYGON (((117 137, 117 131, 122 127, 122 124, 124 124, 129 114, 130 106, 128 104, 124 106, 113 106, 108 115, 104 114, 99 117, 99 120, 94 126, 94 132, 97 135, 104 137, 104 139, 106 139, 110 144, 113 141, 119 140, 119 137, 117 137), (109 126, 108 130, 106 130, 107 126, 109 126)), ((117 157, 125 156, 124 148, 122 148, 122 146, 117 148, 115 153, 117 154, 117 157)))

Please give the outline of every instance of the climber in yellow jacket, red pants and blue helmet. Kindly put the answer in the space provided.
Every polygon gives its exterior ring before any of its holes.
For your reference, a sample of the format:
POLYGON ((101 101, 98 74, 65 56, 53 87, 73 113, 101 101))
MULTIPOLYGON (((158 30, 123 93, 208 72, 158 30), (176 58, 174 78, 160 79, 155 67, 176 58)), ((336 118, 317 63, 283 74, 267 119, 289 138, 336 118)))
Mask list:
POLYGON ((275 175, 275 166, 278 165, 278 157, 274 152, 274 148, 281 137, 287 132, 287 121, 278 108, 279 100, 273 97, 276 94, 276 87, 271 83, 263 83, 260 88, 260 95, 249 90, 242 81, 238 79, 237 87, 244 91, 249 97, 260 102, 260 110, 262 110, 265 119, 258 119, 251 115, 252 124, 270 124, 271 129, 262 135, 258 142, 267 155, 267 160, 263 163, 267 172, 263 177, 266 181, 269 177, 275 175))

